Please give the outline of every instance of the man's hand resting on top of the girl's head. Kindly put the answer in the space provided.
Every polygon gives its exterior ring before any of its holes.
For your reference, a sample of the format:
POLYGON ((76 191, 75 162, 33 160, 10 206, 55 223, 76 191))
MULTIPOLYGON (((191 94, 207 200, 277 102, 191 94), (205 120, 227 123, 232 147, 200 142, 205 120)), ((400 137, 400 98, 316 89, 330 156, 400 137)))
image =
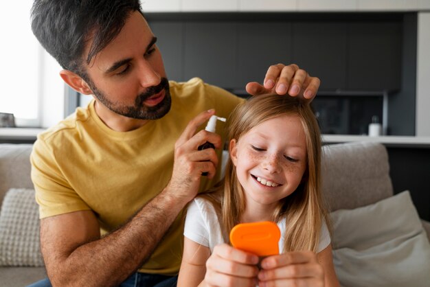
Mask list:
POLYGON ((277 64, 269 67, 263 85, 249 82, 246 89, 251 95, 265 93, 285 95, 288 92, 288 95, 293 97, 299 95, 304 99, 312 100, 317 94, 319 84, 319 78, 309 76, 295 64, 288 66, 277 64))

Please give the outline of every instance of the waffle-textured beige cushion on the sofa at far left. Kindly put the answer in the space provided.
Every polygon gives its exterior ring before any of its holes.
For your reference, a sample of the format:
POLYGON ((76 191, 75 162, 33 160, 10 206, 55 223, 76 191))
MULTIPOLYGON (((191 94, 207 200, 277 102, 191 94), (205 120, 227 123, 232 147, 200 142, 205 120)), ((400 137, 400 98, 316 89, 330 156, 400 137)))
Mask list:
POLYGON ((43 266, 34 190, 10 189, 0 211, 0 266, 43 266))

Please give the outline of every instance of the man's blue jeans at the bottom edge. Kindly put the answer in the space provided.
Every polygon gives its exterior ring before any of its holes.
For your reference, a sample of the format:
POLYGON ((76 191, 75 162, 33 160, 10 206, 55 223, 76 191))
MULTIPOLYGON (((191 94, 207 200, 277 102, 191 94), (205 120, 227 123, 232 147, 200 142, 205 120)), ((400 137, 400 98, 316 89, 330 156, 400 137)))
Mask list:
MULTIPOLYGON (((120 287, 176 287, 177 276, 148 274, 136 272, 120 284, 120 287)), ((52 287, 49 279, 43 279, 27 287, 52 287)))

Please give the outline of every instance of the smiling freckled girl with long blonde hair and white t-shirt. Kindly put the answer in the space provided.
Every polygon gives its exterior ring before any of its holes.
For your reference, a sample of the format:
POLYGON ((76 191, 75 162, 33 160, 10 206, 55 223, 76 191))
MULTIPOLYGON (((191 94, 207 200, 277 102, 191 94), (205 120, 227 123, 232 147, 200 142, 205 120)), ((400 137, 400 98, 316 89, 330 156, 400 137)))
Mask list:
POLYGON ((225 180, 195 198, 185 220, 178 286, 339 286, 321 199, 317 120, 295 97, 262 95, 229 119, 225 180), (242 222, 271 220, 280 255, 226 244, 242 222))

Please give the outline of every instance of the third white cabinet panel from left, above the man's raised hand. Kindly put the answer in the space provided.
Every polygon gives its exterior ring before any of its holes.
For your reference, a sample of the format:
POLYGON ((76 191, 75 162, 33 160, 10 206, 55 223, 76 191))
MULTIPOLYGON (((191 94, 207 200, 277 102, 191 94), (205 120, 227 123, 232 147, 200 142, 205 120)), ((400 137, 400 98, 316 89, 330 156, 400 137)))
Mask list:
POLYGON ((299 0, 239 0, 241 12, 294 12, 299 0))

